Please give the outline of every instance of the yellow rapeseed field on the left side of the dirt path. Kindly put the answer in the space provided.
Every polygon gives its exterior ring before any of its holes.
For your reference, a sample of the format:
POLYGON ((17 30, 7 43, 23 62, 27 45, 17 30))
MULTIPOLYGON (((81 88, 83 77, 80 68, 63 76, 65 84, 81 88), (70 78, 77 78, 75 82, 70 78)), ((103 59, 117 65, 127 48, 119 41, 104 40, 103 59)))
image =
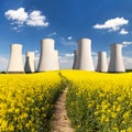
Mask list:
POLYGON ((62 82, 57 72, 0 75, 0 132, 48 132, 62 82))

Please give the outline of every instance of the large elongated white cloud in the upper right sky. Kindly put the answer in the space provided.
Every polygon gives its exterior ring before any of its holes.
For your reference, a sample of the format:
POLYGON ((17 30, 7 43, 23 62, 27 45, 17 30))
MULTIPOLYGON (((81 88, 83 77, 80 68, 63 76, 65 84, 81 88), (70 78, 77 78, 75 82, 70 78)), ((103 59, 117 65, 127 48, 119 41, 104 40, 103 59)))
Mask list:
POLYGON ((103 24, 96 24, 94 25, 95 29, 108 29, 109 31, 118 31, 122 25, 127 25, 129 23, 129 20, 125 20, 124 18, 116 18, 107 20, 103 24))

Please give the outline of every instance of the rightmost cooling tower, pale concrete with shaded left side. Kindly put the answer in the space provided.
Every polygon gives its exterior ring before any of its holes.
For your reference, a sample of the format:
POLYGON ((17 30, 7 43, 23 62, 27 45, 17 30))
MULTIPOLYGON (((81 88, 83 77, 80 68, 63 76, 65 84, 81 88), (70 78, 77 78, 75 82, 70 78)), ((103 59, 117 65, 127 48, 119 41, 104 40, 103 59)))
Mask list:
POLYGON ((111 73, 124 73, 124 64, 122 58, 122 45, 121 44, 112 44, 111 45, 111 54, 110 54, 110 63, 108 72, 111 73))

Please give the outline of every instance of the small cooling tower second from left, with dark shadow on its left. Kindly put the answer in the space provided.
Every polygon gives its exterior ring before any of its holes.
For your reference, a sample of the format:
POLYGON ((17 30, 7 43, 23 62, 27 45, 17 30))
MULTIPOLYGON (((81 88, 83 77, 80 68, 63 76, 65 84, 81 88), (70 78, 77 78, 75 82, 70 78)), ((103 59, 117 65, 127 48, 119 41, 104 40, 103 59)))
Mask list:
POLYGON ((34 73, 35 72, 34 52, 28 52, 26 53, 24 70, 25 70, 25 73, 34 73))

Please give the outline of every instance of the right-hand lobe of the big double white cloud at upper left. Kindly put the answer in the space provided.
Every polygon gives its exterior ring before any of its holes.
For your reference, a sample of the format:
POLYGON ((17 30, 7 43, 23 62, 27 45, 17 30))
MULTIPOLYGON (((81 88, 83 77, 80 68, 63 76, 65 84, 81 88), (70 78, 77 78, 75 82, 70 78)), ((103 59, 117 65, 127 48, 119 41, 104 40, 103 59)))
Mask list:
POLYGON ((32 11, 29 14, 26 20, 26 24, 30 26, 48 26, 48 22, 46 22, 46 16, 41 14, 41 11, 32 11))

